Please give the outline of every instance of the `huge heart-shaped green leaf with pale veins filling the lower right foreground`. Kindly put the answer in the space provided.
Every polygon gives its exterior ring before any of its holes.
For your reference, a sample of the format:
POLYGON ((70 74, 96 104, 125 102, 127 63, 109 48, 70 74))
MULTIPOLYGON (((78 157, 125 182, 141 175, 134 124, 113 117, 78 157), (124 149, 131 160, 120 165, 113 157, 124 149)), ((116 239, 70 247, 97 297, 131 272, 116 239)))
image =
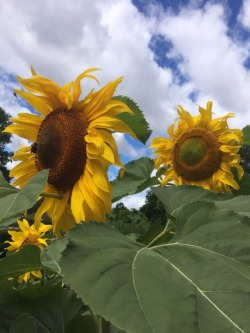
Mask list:
POLYGON ((68 233, 65 279, 129 333, 250 332, 250 220, 211 202, 183 207, 170 243, 144 247, 105 224, 68 233))

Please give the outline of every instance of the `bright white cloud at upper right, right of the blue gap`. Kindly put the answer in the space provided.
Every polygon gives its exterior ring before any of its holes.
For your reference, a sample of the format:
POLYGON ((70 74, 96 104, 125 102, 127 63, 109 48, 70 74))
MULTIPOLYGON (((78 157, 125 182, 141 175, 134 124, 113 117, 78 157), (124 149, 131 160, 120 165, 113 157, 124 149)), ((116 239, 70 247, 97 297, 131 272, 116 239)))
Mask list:
POLYGON ((216 101, 227 112, 237 113, 244 126, 250 102, 247 52, 230 39, 226 23, 223 6, 207 4, 175 16, 166 13, 159 32, 172 42, 171 55, 183 58, 179 68, 198 89, 198 102, 204 97, 216 101))

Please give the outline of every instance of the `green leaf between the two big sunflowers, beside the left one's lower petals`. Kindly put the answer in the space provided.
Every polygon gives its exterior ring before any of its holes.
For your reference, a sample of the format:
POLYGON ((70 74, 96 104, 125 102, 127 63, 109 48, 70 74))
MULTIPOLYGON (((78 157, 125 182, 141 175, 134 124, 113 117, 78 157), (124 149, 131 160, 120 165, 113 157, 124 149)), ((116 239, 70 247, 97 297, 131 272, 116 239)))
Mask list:
POLYGON ((124 176, 111 182, 112 201, 116 202, 121 198, 139 193, 149 186, 158 185, 157 177, 151 177, 154 170, 154 162, 148 157, 141 157, 138 160, 125 165, 124 176))

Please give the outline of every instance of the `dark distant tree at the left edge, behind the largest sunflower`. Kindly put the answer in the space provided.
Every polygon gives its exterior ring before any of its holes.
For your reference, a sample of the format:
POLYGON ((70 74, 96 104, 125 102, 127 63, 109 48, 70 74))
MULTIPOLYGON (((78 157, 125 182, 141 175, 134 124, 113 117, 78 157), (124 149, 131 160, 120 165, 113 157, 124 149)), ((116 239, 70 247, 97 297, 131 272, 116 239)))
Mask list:
POLYGON ((2 131, 11 124, 9 120, 10 115, 8 115, 0 107, 0 171, 2 171, 5 179, 10 181, 9 170, 6 168, 6 164, 11 161, 13 152, 6 150, 5 145, 11 142, 11 134, 3 133, 2 131))

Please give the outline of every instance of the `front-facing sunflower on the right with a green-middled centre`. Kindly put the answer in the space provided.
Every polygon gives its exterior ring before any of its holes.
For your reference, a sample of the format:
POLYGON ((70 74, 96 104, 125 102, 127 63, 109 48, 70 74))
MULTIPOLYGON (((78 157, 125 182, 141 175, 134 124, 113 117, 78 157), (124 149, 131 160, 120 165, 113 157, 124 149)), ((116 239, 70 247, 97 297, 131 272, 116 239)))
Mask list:
POLYGON ((199 115, 192 117, 181 106, 177 107, 178 124, 168 128, 170 138, 155 138, 150 148, 155 149, 155 167, 165 166, 161 185, 170 181, 175 185, 196 185, 214 192, 238 190, 232 168, 243 176, 240 156, 242 131, 229 129, 228 113, 212 119, 212 102, 206 108, 199 107, 199 115))

